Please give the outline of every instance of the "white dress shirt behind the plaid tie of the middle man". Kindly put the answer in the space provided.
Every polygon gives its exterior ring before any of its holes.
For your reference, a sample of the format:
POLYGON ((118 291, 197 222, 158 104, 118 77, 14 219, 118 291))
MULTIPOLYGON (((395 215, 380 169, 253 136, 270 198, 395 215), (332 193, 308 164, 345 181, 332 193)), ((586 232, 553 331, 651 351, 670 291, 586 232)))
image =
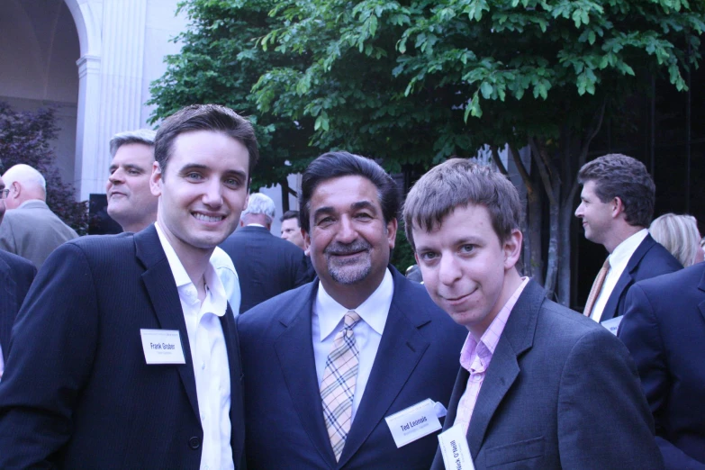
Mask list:
MULTIPOLYGON (((393 294, 394 281, 392 273, 387 269, 382 283, 375 292, 355 309, 355 312, 360 316, 360 321, 357 321, 353 331, 360 356, 358 357, 355 398, 353 398, 352 405, 351 420, 353 421, 357 407, 362 401, 362 395, 365 393, 372 366, 375 364, 377 349, 379 349, 379 342, 382 340, 384 324, 387 322, 393 294)), ((311 319, 313 356, 316 360, 319 388, 321 388, 323 372, 326 368, 326 359, 328 359, 330 349, 333 348, 333 339, 343 329, 343 318, 346 313, 348 313, 348 309, 333 300, 319 281, 311 319)))

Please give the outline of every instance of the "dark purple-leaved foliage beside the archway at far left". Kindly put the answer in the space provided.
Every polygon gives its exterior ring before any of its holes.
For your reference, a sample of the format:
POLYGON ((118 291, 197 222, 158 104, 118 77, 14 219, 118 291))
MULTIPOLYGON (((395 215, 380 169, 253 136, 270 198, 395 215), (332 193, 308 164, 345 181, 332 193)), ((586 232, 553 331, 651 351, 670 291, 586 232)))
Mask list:
POLYGON ((17 112, 0 102, 0 158, 3 172, 24 163, 36 168, 47 180, 47 204, 59 218, 79 235, 88 231, 88 203, 77 202, 72 185, 61 180, 55 165, 56 155, 51 140, 57 136, 54 110, 17 112))

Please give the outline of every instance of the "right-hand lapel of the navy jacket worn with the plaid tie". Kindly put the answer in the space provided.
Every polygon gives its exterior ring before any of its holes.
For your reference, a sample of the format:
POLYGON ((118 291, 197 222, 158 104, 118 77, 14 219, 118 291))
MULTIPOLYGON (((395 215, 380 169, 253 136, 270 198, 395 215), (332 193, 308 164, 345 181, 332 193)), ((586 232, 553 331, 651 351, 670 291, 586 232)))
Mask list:
MULTIPOLYGON (((405 294, 407 281, 395 269, 394 294, 389 309, 384 334, 377 349, 355 420, 350 428, 339 466, 345 465, 365 442, 389 411, 402 387, 429 348, 429 341, 419 328, 430 321, 425 312, 419 312, 405 294)), ((415 403, 409 403, 412 405, 415 403)))

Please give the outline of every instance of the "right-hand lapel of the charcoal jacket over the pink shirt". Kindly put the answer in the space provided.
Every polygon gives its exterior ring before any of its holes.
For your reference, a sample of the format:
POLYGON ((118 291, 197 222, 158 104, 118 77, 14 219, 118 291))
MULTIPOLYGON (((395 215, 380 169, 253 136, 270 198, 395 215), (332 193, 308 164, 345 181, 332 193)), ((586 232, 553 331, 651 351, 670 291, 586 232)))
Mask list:
MULTIPOLYGON (((480 452, 494 412, 520 373, 518 357, 533 345, 538 312, 544 299, 543 289, 534 281, 529 281, 529 285, 524 288, 511 310, 502 337, 494 350, 492 362, 484 376, 483 386, 477 396, 473 417, 467 429, 467 443, 474 457, 480 452)), ((467 375, 465 381, 466 379, 467 375)), ((465 392, 465 387, 463 391, 465 392)), ((453 403, 457 407, 457 403, 453 403)))

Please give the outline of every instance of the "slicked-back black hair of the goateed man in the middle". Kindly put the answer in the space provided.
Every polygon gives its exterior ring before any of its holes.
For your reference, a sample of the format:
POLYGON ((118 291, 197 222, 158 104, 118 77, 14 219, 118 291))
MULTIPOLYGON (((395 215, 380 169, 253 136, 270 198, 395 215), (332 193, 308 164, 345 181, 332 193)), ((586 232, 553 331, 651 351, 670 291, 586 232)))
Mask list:
POLYGON ((396 218, 399 212, 399 194, 392 176, 370 158, 344 151, 329 152, 313 160, 303 172, 299 197, 299 224, 303 230, 310 232, 311 197, 318 185, 342 176, 362 176, 370 180, 377 188, 384 223, 396 218))

